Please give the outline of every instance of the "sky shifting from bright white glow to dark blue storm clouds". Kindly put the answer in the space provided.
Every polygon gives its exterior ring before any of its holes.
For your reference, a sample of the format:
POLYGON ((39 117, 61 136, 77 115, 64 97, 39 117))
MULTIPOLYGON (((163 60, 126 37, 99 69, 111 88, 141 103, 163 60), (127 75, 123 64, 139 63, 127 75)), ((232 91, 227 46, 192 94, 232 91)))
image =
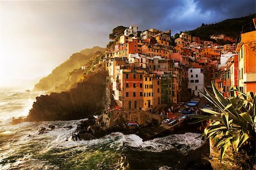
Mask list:
POLYGON ((117 26, 174 35, 250 13, 254 0, 0 1, 0 86, 34 83, 72 53, 106 47, 117 26))

